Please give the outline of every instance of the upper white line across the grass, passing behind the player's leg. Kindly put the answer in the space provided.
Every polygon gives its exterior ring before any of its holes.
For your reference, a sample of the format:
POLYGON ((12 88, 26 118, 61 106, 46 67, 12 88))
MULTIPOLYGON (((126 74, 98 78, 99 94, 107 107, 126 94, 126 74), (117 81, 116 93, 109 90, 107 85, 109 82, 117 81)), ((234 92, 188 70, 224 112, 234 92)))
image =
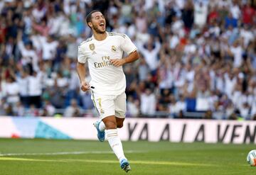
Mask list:
MULTIPOLYGON (((128 150, 124 153, 144 153, 143 151, 128 150)), ((6 156, 40 156, 40 155, 68 155, 68 154, 113 154, 111 151, 91 151, 91 152, 42 152, 42 153, 0 153, 0 157, 6 156)))

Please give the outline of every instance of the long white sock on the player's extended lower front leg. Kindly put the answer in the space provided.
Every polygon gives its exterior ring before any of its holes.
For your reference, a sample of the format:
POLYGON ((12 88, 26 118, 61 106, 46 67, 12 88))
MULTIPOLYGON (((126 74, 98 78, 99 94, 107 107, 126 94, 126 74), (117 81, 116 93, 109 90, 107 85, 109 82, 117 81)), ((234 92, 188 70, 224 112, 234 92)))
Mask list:
POLYGON ((107 134, 107 140, 110 144, 110 147, 112 148, 114 154, 116 154, 117 158, 119 159, 119 162, 122 159, 126 159, 124 157, 122 142, 118 136, 117 129, 105 130, 105 133, 107 134))

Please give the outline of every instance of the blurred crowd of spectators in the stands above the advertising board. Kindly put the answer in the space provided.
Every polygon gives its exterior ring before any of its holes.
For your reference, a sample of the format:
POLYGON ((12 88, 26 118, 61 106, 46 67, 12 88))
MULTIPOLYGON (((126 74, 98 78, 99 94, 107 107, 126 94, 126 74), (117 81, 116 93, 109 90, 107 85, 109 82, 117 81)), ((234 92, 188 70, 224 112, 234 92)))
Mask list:
POLYGON ((141 55, 124 66, 127 116, 255 120, 255 7, 255 0, 0 1, 0 115, 93 115, 75 67, 78 45, 92 35, 85 16, 99 9, 107 30, 129 35, 141 55))

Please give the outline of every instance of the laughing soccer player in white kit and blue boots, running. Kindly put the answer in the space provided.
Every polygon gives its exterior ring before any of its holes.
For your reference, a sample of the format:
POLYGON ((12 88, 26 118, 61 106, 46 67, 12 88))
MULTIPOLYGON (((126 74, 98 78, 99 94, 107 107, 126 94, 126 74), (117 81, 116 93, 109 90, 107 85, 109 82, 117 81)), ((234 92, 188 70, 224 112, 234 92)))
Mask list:
POLYGON ((100 115, 100 121, 94 123, 98 139, 103 142, 106 133, 121 168, 128 172, 131 167, 117 133, 117 128, 122 128, 126 112, 126 80, 122 65, 139 59, 139 54, 127 35, 106 31, 106 20, 100 11, 90 12, 86 22, 92 37, 78 47, 77 71, 81 89, 92 91, 92 101, 100 115), (123 52, 127 57, 122 57, 123 52), (92 78, 90 83, 85 81, 86 62, 92 78))

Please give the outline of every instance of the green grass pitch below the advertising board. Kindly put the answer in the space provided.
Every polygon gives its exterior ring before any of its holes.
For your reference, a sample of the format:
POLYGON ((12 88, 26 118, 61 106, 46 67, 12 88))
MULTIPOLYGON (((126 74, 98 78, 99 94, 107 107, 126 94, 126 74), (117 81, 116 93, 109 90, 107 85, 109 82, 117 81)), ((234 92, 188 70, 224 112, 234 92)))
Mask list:
MULTIPOLYGON (((123 142, 131 175, 256 174, 246 162, 255 145, 123 142)), ((107 142, 0 139, 1 175, 126 174, 107 142), (49 154, 48 154, 49 153, 49 154)))

